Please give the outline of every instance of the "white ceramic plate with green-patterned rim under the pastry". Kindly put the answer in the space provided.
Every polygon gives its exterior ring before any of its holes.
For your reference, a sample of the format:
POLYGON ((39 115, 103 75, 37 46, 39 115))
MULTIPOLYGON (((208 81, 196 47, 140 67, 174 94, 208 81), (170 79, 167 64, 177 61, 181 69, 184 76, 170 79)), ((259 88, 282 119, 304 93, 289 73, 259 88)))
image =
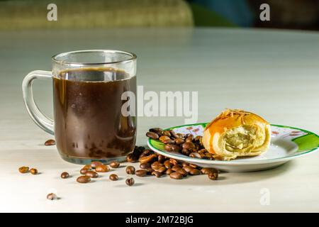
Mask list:
MULTIPOLYGON (((167 128, 167 130, 174 130, 177 133, 184 134, 203 135, 203 129, 206 124, 196 123, 167 128)), ((201 167, 215 167, 226 172, 250 172, 268 170, 294 158, 314 153, 319 148, 319 136, 300 128, 272 125, 272 142, 266 153, 254 157, 240 157, 230 161, 204 160, 179 153, 170 153, 164 150, 164 143, 159 140, 149 139, 147 145, 156 153, 176 160, 194 163, 201 167)))

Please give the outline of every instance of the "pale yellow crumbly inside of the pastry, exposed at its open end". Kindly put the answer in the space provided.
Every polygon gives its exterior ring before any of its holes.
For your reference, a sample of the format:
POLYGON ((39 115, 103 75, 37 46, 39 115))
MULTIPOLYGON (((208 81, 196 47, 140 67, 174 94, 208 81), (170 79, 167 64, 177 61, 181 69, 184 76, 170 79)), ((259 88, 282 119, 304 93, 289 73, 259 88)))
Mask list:
POLYGON ((263 145, 265 138, 265 131, 258 126, 242 125, 225 131, 220 142, 230 152, 253 152, 263 145))

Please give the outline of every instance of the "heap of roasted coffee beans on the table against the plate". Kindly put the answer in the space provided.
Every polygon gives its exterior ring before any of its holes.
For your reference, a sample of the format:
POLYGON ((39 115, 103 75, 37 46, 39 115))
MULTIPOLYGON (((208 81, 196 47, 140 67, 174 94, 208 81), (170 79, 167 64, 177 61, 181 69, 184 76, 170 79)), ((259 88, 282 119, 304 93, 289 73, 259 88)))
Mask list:
MULTIPOLYGON (((153 132, 150 131, 149 133, 153 132)), ((208 179, 218 178, 218 170, 214 168, 202 168, 191 163, 179 162, 172 158, 158 155, 144 147, 135 147, 133 153, 128 154, 127 161, 140 162, 140 170, 135 170, 133 166, 126 167, 127 174, 135 174, 138 177, 145 177, 147 175, 162 177, 169 175, 172 179, 183 179, 190 175, 208 175, 208 179)))

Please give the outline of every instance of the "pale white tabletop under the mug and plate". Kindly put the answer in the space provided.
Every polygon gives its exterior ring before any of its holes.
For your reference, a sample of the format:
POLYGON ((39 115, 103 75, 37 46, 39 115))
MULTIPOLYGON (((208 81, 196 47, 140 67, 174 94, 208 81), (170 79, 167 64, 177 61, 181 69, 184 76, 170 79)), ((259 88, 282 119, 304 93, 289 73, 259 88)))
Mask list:
MULTIPOLYGON (((319 133, 319 33, 228 29, 118 29, 0 33, 0 211, 220 212, 319 211, 319 154, 273 170, 173 180, 135 177, 135 186, 108 175, 89 184, 75 179, 79 166, 43 143, 23 105, 21 81, 31 70, 50 70, 50 57, 81 49, 129 50, 138 55, 138 84, 147 91, 198 91, 198 122, 241 108, 269 122, 319 133), (40 175, 22 175, 20 166, 40 175), (72 177, 60 179, 60 173, 72 177), (270 204, 260 204, 261 190, 270 204), (48 201, 56 192, 61 199, 48 201)), ((38 106, 52 116, 50 82, 35 82, 38 106)), ((138 119, 138 145, 153 126, 182 117, 138 119)), ((126 164, 125 164, 126 165, 126 164)))

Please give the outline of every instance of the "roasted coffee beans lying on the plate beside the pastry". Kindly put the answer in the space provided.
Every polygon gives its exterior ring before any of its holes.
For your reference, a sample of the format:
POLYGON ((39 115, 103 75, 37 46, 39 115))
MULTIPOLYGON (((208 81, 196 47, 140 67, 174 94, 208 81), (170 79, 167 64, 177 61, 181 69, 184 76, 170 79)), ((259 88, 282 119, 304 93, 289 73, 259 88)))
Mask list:
POLYGON ((164 143, 164 149, 169 152, 207 160, 214 159, 213 155, 203 147, 201 135, 184 135, 175 133, 173 130, 162 130, 162 128, 150 128, 146 135, 153 140, 159 140, 164 143))

